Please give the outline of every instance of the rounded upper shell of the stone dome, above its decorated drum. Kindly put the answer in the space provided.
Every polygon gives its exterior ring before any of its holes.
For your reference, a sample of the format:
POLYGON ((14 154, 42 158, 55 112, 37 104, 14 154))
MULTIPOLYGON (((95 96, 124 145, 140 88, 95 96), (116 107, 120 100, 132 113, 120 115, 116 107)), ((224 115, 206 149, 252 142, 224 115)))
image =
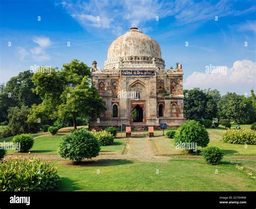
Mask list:
POLYGON ((107 52, 108 60, 129 56, 161 58, 161 49, 156 40, 143 34, 137 27, 131 27, 112 42, 107 52))

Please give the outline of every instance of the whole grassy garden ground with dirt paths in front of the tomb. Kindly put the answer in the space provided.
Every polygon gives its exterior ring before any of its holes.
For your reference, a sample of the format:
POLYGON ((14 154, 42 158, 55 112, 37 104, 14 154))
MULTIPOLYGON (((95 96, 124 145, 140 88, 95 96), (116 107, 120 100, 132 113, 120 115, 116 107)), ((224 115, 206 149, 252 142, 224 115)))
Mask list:
MULTIPOLYGON (((173 140, 163 136, 161 130, 156 130, 152 138, 118 134, 113 145, 101 148, 98 157, 73 164, 57 154, 62 137, 69 133, 65 128, 55 136, 33 135, 35 144, 29 157, 47 159, 57 166, 59 191, 255 191, 255 179, 246 171, 256 175, 256 145, 245 148, 221 142, 222 127, 207 131, 209 145, 225 151, 219 165, 207 165, 201 156, 175 149, 173 140), (244 166, 245 171, 238 170, 236 164, 244 166)), ((8 155, 21 154, 10 150, 8 155)))

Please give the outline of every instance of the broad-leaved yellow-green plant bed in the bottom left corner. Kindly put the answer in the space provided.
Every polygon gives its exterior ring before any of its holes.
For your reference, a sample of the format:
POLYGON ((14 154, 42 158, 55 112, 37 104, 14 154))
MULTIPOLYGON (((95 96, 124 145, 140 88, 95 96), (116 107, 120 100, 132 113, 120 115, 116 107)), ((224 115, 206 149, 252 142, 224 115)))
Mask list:
POLYGON ((5 158, 0 173, 1 191, 51 191, 58 187, 57 168, 38 158, 5 158))

